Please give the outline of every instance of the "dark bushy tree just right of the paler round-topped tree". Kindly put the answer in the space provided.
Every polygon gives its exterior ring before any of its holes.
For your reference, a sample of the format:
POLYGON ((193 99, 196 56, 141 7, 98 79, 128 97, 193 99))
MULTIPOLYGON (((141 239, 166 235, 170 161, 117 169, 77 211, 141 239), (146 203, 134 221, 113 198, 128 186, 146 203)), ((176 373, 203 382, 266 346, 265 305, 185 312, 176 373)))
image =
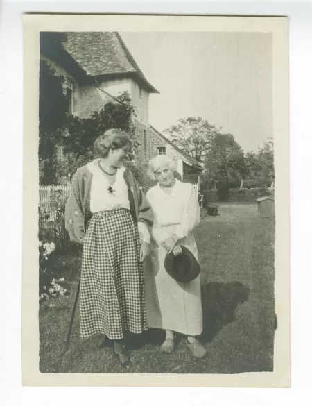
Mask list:
POLYGON ((227 176, 229 185, 239 185, 246 173, 245 158, 241 146, 232 134, 217 133, 205 158, 205 171, 202 180, 205 183, 218 182, 227 176))

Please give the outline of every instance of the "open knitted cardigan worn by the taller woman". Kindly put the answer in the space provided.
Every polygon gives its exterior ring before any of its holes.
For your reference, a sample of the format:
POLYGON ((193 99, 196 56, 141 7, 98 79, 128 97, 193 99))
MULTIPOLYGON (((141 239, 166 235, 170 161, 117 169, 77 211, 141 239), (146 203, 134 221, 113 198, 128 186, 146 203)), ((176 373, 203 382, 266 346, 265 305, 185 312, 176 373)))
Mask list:
MULTIPOLYGON (((137 185, 132 172, 125 169, 123 178, 128 187, 130 212, 135 224, 137 224, 138 221, 143 221, 146 223, 146 226, 152 226, 152 209, 137 185)), ((92 212, 90 211, 91 184, 92 172, 89 171, 87 166, 79 168, 73 176, 71 194, 65 207, 65 227, 73 242, 83 242, 87 230, 87 223, 92 217, 92 212)))

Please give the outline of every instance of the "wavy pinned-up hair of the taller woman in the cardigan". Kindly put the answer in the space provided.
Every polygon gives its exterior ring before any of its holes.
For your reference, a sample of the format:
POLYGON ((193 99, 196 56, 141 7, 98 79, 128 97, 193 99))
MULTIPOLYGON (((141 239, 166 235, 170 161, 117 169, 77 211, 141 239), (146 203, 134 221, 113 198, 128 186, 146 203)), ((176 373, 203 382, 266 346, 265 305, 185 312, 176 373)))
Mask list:
POLYGON ((106 158, 110 149, 119 149, 125 145, 129 145, 130 148, 132 146, 129 135, 118 128, 111 128, 96 138, 94 150, 99 158, 106 158))

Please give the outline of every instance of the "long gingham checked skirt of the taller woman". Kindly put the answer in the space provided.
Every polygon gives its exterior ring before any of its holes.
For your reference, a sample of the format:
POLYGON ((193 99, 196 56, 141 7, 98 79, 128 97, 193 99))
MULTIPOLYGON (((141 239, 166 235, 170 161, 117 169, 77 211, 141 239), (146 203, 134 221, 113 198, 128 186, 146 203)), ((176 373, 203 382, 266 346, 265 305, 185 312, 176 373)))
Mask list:
POLYGON ((94 213, 83 244, 80 335, 147 329, 139 233, 129 210, 94 213))

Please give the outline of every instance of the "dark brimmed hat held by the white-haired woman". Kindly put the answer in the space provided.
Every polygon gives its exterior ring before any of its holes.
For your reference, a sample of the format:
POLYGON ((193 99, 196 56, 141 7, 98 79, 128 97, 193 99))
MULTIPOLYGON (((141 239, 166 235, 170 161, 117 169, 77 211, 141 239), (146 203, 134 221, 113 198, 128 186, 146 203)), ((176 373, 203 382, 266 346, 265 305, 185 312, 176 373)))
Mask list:
POLYGON ((175 256, 172 252, 167 254, 164 266, 168 274, 177 282, 191 282, 198 277, 200 266, 196 257, 185 246, 181 246, 182 253, 175 256))

